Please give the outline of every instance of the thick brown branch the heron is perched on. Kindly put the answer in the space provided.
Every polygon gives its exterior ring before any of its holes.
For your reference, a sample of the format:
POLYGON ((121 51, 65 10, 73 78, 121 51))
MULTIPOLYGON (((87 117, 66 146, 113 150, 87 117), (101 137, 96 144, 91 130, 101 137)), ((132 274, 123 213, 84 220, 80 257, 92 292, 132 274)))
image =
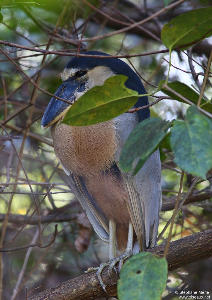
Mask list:
MULTIPOLYGON (((212 256, 212 229, 189 235, 169 245, 167 261, 169 270, 182 267, 190 262, 206 259, 212 256)), ((166 244, 148 250, 163 257, 166 244)), ((88 300, 100 296, 116 295, 118 277, 115 273, 108 276, 107 268, 103 270, 102 278, 108 294, 100 287, 95 272, 81 275, 35 295, 28 300, 88 300)))

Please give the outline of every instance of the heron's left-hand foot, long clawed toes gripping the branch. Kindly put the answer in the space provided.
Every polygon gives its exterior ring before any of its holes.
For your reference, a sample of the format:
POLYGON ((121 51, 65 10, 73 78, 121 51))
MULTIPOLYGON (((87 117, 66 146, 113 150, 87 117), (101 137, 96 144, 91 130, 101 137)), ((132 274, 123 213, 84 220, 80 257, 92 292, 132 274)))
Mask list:
POLYGON ((112 270, 118 275, 117 273, 117 270, 116 270, 116 267, 115 267, 115 264, 119 261, 119 257, 116 257, 116 258, 111 258, 109 260, 109 262, 103 262, 100 264, 99 267, 97 268, 88 268, 87 271, 85 271, 85 273, 90 273, 92 271, 97 271, 96 275, 97 275, 97 278, 99 280, 99 283, 100 283, 100 286, 103 288, 103 290, 107 293, 106 291, 106 285, 104 284, 103 280, 102 280, 102 277, 101 277, 101 274, 102 274, 102 271, 105 267, 109 267, 108 268, 108 274, 111 275, 112 273, 112 270), (111 266, 112 265, 112 266, 111 266))

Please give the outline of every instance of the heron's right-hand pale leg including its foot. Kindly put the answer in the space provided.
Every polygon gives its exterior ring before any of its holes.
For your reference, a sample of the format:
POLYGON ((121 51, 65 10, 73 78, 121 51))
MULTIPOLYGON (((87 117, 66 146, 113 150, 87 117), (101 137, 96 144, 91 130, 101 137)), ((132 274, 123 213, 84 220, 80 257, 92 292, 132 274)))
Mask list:
POLYGON ((133 224, 132 224, 132 222, 129 223, 127 247, 126 247, 124 253, 121 254, 121 256, 112 260, 111 264, 109 265, 108 271, 111 271, 112 268, 114 268, 115 264, 117 262, 119 262, 118 273, 120 273, 121 268, 124 263, 124 260, 130 256, 133 256, 133 224))

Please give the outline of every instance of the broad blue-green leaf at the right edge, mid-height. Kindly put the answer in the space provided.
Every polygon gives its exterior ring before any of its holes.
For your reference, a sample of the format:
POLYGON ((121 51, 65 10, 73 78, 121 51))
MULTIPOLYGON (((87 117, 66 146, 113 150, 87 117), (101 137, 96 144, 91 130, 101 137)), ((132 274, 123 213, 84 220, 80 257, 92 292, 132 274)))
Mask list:
POLYGON ((212 167, 212 121, 196 106, 187 109, 186 121, 175 121, 170 143, 175 162, 183 170, 206 179, 212 167))

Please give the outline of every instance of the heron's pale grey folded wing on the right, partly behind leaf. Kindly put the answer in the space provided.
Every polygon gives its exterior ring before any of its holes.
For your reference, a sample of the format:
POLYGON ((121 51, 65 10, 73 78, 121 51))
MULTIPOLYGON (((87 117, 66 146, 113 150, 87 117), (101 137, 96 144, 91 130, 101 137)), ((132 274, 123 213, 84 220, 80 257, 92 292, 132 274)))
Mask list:
MULTIPOLYGON (((134 126, 139 123, 136 114, 125 113, 116 118, 119 155, 134 126)), ((161 208, 161 167, 159 150, 155 151, 145 162, 136 176, 123 173, 129 193, 129 211, 140 250, 154 247, 157 243, 159 211, 161 208)))

